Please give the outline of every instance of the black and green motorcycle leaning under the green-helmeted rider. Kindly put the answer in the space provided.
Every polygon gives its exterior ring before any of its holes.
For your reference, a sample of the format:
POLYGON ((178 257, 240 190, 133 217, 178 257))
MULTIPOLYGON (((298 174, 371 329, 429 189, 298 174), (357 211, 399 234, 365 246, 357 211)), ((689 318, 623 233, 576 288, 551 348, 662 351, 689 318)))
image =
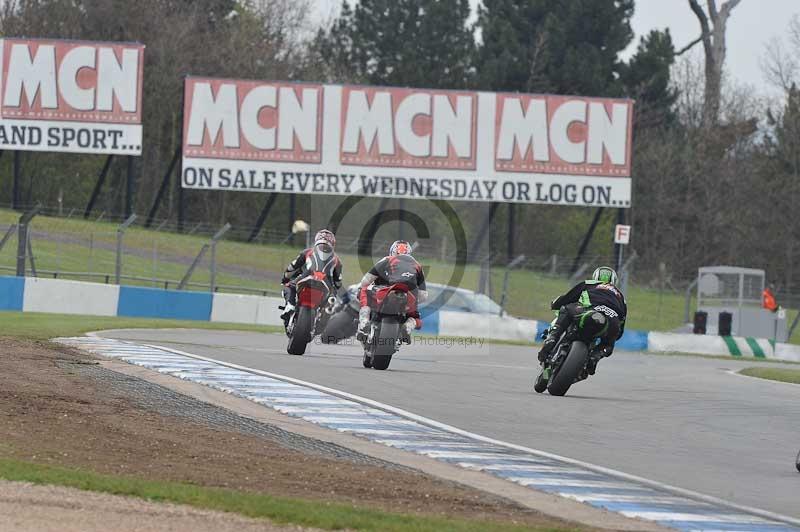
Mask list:
MULTIPOLYGON (((601 355, 597 349, 599 336, 603 333, 608 318, 600 311, 589 311, 582 319, 573 321, 542 362, 542 371, 536 377, 533 389, 536 393, 547 390, 550 395, 562 396, 570 386, 589 377, 588 364, 592 358, 597 362, 601 355)), ((545 337, 548 331, 542 335, 545 337)))

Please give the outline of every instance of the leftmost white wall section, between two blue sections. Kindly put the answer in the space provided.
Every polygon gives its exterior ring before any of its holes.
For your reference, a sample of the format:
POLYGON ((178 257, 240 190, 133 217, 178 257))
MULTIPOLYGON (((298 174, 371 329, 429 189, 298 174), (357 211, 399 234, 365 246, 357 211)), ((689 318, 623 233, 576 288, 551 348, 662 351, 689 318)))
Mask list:
POLYGON ((116 316, 119 286, 62 279, 25 279, 23 312, 116 316))

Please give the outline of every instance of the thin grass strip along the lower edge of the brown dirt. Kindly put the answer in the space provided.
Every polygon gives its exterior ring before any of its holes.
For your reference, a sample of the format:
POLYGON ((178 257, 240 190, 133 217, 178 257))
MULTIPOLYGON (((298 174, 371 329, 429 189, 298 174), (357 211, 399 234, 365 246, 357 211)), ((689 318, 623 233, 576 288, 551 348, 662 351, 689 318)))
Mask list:
POLYGON ((0 477, 6 480, 66 486, 81 490, 124 495, 140 499, 186 504, 196 508, 265 518, 279 524, 295 524, 325 530, 439 531, 567 530, 522 527, 513 524, 401 515, 345 504, 319 503, 272 497, 259 493, 207 488, 172 482, 154 482, 133 477, 32 464, 0 458, 0 477))

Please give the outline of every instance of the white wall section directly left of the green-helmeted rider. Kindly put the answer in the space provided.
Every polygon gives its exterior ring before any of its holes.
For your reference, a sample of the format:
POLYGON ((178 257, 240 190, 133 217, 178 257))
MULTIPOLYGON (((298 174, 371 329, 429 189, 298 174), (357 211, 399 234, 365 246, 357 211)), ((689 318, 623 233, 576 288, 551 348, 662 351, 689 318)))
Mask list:
POLYGON ((536 322, 486 314, 439 311, 439 334, 533 342, 536 339, 536 322))

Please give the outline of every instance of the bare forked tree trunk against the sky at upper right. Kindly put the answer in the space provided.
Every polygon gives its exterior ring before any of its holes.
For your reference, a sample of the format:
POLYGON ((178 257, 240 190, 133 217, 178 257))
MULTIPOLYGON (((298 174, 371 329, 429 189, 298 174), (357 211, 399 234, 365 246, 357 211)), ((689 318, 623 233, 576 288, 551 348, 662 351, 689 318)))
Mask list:
POLYGON ((706 10, 698 0, 689 0, 689 7, 700 22, 700 36, 689 43, 678 54, 682 54, 699 42, 705 52, 705 106, 703 109, 704 127, 717 125, 719 121, 720 100, 722 98, 722 69, 725 66, 725 30, 731 11, 741 0, 728 0, 717 9, 716 0, 708 0, 706 10))

